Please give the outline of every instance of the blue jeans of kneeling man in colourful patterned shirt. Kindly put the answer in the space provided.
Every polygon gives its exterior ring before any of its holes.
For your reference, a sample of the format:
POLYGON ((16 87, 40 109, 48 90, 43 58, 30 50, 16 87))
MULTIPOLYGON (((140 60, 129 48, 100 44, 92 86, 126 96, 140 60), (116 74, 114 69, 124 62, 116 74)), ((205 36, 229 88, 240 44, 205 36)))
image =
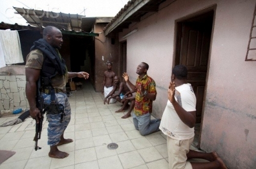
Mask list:
POLYGON ((140 131, 141 135, 147 135, 155 131, 159 131, 160 120, 150 120, 151 114, 148 112, 142 116, 136 116, 133 114, 133 123, 137 130, 140 131))

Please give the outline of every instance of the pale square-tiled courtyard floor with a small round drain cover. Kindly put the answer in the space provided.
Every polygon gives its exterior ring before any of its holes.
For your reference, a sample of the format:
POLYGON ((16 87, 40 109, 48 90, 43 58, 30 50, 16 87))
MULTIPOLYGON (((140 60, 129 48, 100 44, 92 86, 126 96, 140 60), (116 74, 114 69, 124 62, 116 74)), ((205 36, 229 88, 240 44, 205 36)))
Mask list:
MULTIPOLYGON (((23 123, 0 127, 0 150, 16 152, 0 168, 168 168, 166 136, 161 131, 140 135, 131 117, 121 119, 124 113, 115 113, 120 103, 104 105, 102 94, 88 82, 69 101, 72 117, 65 137, 74 142, 58 147, 69 152, 67 158, 48 156, 46 120, 38 140, 42 149, 35 151, 35 121, 27 118, 23 123), (110 143, 118 148, 109 150, 110 143)), ((0 124, 15 118, 2 117, 0 124)))

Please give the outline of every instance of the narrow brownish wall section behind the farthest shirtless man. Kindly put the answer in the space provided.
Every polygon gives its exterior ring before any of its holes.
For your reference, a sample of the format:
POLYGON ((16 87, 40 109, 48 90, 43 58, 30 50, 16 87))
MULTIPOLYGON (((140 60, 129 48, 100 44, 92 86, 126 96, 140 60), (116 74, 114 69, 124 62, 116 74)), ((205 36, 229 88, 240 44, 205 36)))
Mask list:
POLYGON ((106 24, 95 24, 95 33, 102 32, 99 37, 95 37, 95 90, 101 92, 104 71, 108 70, 106 64, 113 63, 112 70, 120 76, 119 68, 119 42, 116 37, 105 37, 102 31, 106 24), (115 39, 112 44, 111 38, 115 39))

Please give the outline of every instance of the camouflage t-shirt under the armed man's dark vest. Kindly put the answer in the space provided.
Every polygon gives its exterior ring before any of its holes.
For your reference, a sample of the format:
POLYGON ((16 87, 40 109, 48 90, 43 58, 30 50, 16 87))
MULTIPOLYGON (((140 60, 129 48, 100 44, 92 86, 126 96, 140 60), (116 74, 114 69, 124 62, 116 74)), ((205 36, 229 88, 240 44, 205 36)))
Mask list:
MULTIPOLYGON (((59 54, 59 57, 61 57, 58 49, 56 49, 56 51, 59 54)), ((44 62, 44 55, 42 54, 42 51, 39 49, 35 49, 30 51, 30 53, 27 55, 27 63, 25 68, 41 69, 43 62, 44 62)), ((56 76, 51 78, 52 87, 57 89, 58 92, 62 92, 62 93, 66 92, 67 81, 68 81, 68 71, 66 72, 65 75, 59 75, 57 73, 56 76)))

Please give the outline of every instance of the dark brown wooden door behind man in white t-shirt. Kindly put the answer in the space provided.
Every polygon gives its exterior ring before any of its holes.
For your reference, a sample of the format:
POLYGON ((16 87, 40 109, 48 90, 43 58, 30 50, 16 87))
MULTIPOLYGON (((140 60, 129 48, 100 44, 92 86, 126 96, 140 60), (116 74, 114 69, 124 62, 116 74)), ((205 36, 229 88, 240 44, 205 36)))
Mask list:
POLYGON ((201 122, 211 26, 211 24, 205 24, 205 22, 183 22, 181 24, 182 38, 179 64, 187 67, 187 82, 193 86, 197 97, 196 123, 201 122))

